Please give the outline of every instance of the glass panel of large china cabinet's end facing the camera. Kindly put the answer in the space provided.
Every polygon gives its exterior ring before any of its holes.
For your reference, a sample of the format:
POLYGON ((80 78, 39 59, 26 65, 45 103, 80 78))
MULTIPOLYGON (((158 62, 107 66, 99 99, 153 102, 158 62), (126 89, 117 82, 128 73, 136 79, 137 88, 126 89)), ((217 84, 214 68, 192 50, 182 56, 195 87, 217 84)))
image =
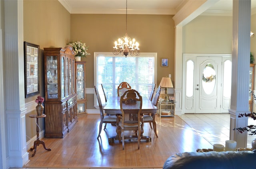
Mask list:
POLYGON ((58 56, 47 56, 47 98, 58 98, 58 56))

